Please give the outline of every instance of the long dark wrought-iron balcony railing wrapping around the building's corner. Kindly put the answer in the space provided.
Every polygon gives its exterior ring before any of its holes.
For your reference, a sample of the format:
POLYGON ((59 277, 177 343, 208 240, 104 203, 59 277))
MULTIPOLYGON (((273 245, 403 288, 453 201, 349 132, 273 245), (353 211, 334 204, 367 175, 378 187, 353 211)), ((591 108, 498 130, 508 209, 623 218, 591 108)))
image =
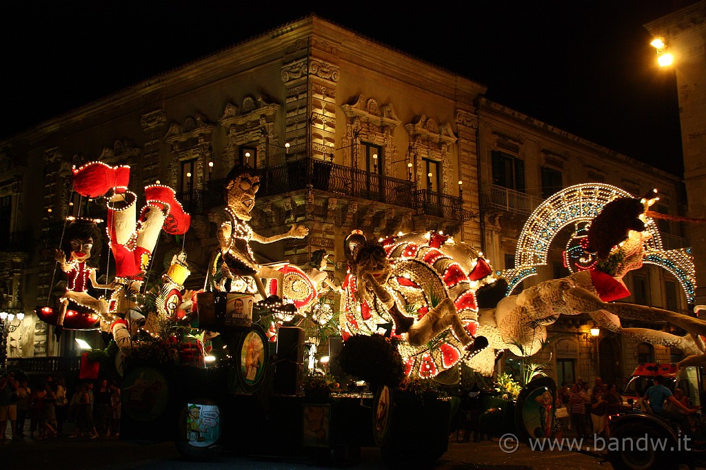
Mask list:
MULTIPOLYGON (((446 219, 468 219, 461 211, 461 198, 433 191, 415 191, 414 183, 405 179, 369 173, 319 159, 303 158, 261 170, 258 198, 318 189, 381 203, 409 207, 417 215, 433 215, 446 219)), ((208 181, 203 189, 192 189, 177 195, 184 210, 199 213, 224 204, 225 179, 208 181)), ((467 212, 467 211, 466 211, 467 212)))

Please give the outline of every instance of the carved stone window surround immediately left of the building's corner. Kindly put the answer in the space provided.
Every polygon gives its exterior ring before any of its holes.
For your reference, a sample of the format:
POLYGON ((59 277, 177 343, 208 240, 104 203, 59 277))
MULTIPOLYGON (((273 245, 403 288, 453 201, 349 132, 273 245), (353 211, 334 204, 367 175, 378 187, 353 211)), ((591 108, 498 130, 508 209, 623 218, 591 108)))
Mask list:
POLYGON ((279 109, 279 104, 265 101, 263 95, 245 97, 240 111, 235 104, 226 104, 219 122, 226 129, 223 157, 229 166, 237 159, 238 147, 253 142, 257 143, 258 167, 265 166, 265 159, 269 160, 269 164, 276 164, 281 153, 275 135, 275 118, 279 109), (277 152, 272 152, 273 149, 277 152), (274 155, 268 155, 268 152, 274 155))

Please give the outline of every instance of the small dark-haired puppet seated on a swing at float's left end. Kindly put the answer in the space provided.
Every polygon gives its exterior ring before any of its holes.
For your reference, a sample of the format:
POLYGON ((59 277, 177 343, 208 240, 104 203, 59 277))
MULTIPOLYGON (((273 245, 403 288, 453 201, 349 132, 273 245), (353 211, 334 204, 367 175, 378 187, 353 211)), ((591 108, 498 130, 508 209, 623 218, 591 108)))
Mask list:
POLYGON ((112 284, 98 284, 96 270, 100 256, 101 234, 92 220, 78 219, 66 227, 66 242, 54 251, 54 258, 61 271, 66 274, 66 291, 61 296, 59 317, 54 326, 54 335, 59 337, 64 329, 64 318, 69 303, 73 302, 97 313, 100 320, 107 321, 108 302, 104 297, 96 299, 88 294, 88 288, 112 289, 112 284), (68 260, 66 259, 66 253, 68 260))

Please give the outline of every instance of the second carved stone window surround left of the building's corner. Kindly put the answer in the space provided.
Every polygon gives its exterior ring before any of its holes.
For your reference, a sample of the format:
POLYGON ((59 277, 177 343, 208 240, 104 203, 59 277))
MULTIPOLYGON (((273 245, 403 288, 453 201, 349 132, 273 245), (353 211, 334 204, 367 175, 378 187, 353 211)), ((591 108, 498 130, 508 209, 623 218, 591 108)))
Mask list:
POLYGON ((177 188, 181 162, 196 159, 195 189, 203 188, 206 161, 211 157, 211 139, 215 124, 209 123, 201 114, 189 116, 184 125, 172 123, 165 140, 172 145, 172 159, 169 162, 169 185, 177 188))

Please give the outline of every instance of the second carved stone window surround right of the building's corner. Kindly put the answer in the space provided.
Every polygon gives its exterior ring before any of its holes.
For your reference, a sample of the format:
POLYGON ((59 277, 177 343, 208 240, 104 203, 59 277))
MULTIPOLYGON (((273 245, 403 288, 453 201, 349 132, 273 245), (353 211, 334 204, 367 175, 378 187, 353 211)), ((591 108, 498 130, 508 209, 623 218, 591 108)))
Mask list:
MULTIPOLYGON (((422 167, 422 159, 427 158, 441 163, 441 188, 439 192, 448 194, 451 174, 451 153, 450 146, 458 140, 450 123, 439 126, 435 119, 431 119, 422 114, 417 121, 405 125, 409 133, 409 141, 412 142, 412 150, 417 160, 417 175, 424 175, 426 171, 422 167)), ((417 178, 417 188, 424 187, 423 178, 417 178)))

